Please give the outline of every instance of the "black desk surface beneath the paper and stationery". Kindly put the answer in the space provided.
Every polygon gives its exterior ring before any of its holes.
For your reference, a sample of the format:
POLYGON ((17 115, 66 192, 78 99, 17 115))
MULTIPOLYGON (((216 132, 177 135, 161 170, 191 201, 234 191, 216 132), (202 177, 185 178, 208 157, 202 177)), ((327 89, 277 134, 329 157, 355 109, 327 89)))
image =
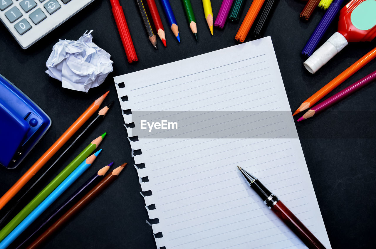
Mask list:
MULTIPOLYGON (((179 24, 182 42, 177 43, 173 33, 168 29, 167 20, 161 13, 167 48, 163 47, 158 39, 158 50, 155 50, 147 39, 136 2, 120 1, 139 59, 134 65, 127 62, 109 1, 94 1, 27 50, 21 49, 5 26, 0 25, 0 73, 17 85, 52 118, 51 128, 20 166, 14 170, 0 168, 0 194, 5 193, 83 110, 107 90, 111 91, 105 103, 115 100, 113 109, 92 135, 85 138, 76 147, 74 153, 69 153, 61 161, 58 165, 59 169, 55 172, 64 168, 64 165, 74 158, 74 154, 82 150, 94 137, 107 132, 108 135, 101 144, 103 152, 95 163, 97 166, 85 172, 80 181, 71 186, 60 200, 79 187, 85 178, 96 172, 99 165, 106 165, 111 161, 115 161, 116 165, 129 163, 119 179, 53 237, 45 248, 156 247, 152 229, 145 222, 148 216, 143 197, 139 194, 141 188, 133 167, 112 77, 237 44, 234 37, 240 23, 226 23, 223 30, 214 29, 214 35, 211 36, 204 19, 202 1, 191 1, 197 19, 199 42, 196 43, 186 23, 181 1, 170 0, 179 24), (59 38, 76 40, 85 30, 90 29, 94 30, 92 33, 94 43, 111 55, 114 72, 109 74, 102 85, 89 90, 88 93, 61 88, 61 82, 50 78, 44 72, 45 62, 52 51, 52 46, 59 38)), ((156 1, 156 3, 158 9, 162 11, 160 2, 156 1)), ((220 3, 219 0, 212 0, 214 18, 220 3)), ((241 20, 244 19, 251 3, 252 1, 247 1, 241 20)), ((308 73, 303 67, 304 58, 300 56, 300 52, 324 11, 316 9, 311 20, 303 22, 299 20, 299 13, 304 5, 305 3, 297 0, 280 1, 265 33, 265 36, 270 35, 273 41, 293 112, 307 97, 375 46, 374 42, 349 44, 316 74, 308 73)), ((337 21, 334 21, 324 37, 325 40, 335 32, 336 28, 337 21)), ((334 93, 371 73, 375 67, 376 60, 350 77, 334 93)), ((333 248, 374 246, 375 96, 376 86, 368 85, 321 115, 296 124, 333 248)), ((54 174, 50 175, 50 179, 54 174)), ((59 201, 51 208, 57 204, 59 201)), ((31 229, 36 225, 32 225, 31 229)), ((19 240, 22 238, 19 237, 19 240)))

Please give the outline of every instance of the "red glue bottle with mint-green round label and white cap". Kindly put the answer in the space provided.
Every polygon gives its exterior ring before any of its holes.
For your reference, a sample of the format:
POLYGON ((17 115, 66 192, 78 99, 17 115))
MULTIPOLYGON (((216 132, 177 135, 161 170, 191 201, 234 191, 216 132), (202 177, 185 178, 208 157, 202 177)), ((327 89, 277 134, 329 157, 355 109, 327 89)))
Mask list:
POLYGON ((315 73, 349 42, 371 41, 376 36, 376 0, 352 0, 340 11, 338 31, 303 64, 315 73))

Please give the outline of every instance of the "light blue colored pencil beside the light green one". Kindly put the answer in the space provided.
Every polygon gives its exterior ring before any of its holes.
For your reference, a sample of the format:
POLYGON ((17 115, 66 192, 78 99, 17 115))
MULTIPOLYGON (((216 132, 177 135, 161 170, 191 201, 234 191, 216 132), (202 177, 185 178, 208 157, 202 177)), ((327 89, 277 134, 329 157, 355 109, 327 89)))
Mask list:
POLYGON ((18 226, 0 243, 0 249, 7 248, 31 223, 34 222, 65 190, 85 172, 102 149, 86 158, 52 193, 47 196, 18 226))

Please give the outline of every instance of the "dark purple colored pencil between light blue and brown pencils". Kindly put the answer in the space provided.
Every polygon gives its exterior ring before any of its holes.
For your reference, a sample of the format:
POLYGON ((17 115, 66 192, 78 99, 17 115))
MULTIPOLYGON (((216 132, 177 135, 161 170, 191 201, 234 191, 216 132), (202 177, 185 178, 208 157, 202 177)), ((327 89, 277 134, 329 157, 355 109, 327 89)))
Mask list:
POLYGON ((59 218, 62 214, 64 214, 65 211, 67 211, 68 208, 74 205, 79 199, 82 198, 84 194, 86 194, 89 190, 91 190, 100 180, 103 179, 106 172, 110 169, 110 167, 114 164, 114 162, 111 162, 110 164, 106 165, 102 169, 98 170, 97 173, 95 173, 93 176, 91 176, 84 184, 82 184, 81 187, 79 187, 76 191, 74 191, 71 196, 69 196, 64 202, 61 203, 58 208, 55 209, 55 211, 52 212, 52 215, 45 220, 45 222, 39 226, 38 229, 35 230, 26 240, 24 240, 18 247, 25 245, 28 241, 30 242, 31 239, 37 235, 39 232, 44 231, 44 229, 48 228, 51 222, 56 218, 59 218))

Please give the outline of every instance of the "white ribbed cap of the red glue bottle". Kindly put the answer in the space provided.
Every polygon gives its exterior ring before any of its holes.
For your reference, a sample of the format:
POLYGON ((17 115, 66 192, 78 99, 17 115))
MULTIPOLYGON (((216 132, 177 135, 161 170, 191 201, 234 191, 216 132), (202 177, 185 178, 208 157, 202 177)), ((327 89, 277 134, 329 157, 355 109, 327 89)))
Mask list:
POLYGON ((321 47, 309 57, 303 65, 310 73, 316 73, 333 56, 337 55, 347 45, 347 40, 338 32, 335 32, 321 47))

